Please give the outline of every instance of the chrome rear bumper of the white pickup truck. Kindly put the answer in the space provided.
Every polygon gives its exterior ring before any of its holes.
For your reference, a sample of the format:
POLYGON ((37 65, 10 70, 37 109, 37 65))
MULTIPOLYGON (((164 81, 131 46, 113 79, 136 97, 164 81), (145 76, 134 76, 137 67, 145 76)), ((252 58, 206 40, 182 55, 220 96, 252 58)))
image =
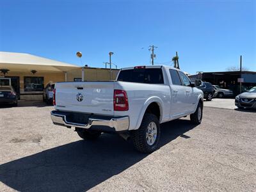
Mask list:
POLYGON ((82 129, 97 129, 111 131, 127 131, 129 129, 129 116, 109 117, 109 116, 89 116, 86 123, 77 123, 68 120, 63 111, 51 111, 51 119, 53 124, 65 127, 79 127, 82 129), (109 128, 109 129, 108 129, 109 128))

